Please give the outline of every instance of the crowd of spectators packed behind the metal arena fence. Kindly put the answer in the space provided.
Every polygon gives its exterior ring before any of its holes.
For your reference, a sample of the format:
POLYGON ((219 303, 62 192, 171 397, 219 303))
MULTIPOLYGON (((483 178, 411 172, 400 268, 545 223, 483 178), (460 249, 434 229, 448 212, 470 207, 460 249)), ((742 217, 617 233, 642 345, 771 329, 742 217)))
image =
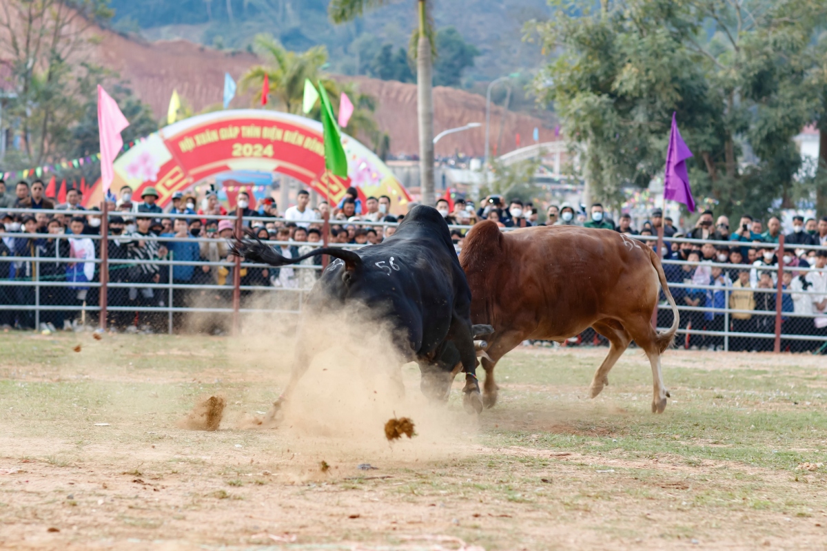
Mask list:
MULTIPOLYGON (((84 211, 83 197, 78 190, 69 190, 66 202, 55 204, 54 198, 45 197, 44 189, 44 183, 36 180, 31 185, 19 182, 14 191, 9 192, 0 181, 0 208, 84 211)), ((200 198, 192 193, 174 193, 166 210, 157 204, 158 193, 154 188, 144 188, 140 198, 134 197, 128 187, 122 188, 118 195, 117 202, 110 207, 107 241, 109 281, 116 284, 108 288, 112 327, 128 331, 159 330, 166 316, 141 311, 141 308, 170 305, 168 290, 162 287, 170 281, 176 289, 171 306, 176 308, 214 308, 232 301, 235 259, 230 254, 228 240, 236 233, 235 222, 203 217, 227 215, 216 192, 208 191, 200 198), (170 213, 188 216, 172 218, 168 216, 170 213), (165 259, 187 264, 174 264, 170 268, 163 262, 165 259)), ((390 197, 363 200, 355 188, 348 189, 336 205, 321 201, 311 207, 306 191, 298 193, 296 203, 280 211, 269 197, 255 201, 247 192, 237 195, 242 224, 259 239, 278 242, 273 246, 288 258, 307 254, 321 245, 324 216, 329 217, 328 242, 342 246, 380 243, 395 231, 395 226, 382 224, 394 224, 404 218, 390 214, 390 197)), ((714 220, 711 211, 704 211, 694 227, 681 231, 657 209, 636 229, 628 214, 619 216, 615 224, 600 203, 588 210, 566 202, 551 205, 543 221, 539 220, 537 207, 519 199, 505 201, 492 195, 484 197, 479 205, 464 199, 452 203, 440 199, 436 207, 448 224, 456 226, 473 226, 478 221, 491 220, 504 228, 538 224, 604 228, 643 239, 653 249, 657 249, 654 236, 662 228, 664 271, 676 302, 688 308, 681 313, 681 326, 689 330, 686 345, 692 348, 723 347, 723 336, 699 335, 696 331, 720 332, 724 330, 724 319, 729 320, 732 331, 774 334, 776 294, 762 290, 776 288, 779 256, 787 267, 817 268, 784 273, 782 287, 789 293, 783 294, 782 311, 801 316, 784 316, 782 332, 827 335, 827 252, 805 248, 827 246, 827 217, 816 220, 795 216, 793 231, 785 236, 784 249, 778 250, 772 245, 777 245, 782 225, 775 216, 767 220, 766 230, 762 221, 751 216, 742 216, 738 226, 730 230, 726 216, 714 220), (647 235, 652 237, 647 239, 647 235), (682 242, 678 240, 681 237, 706 242, 682 242), (727 309, 728 316, 724 316, 727 309), (767 314, 756 311, 767 311, 767 314)), ((31 310, 0 310, 0 328, 69 330, 81 322, 83 315, 79 312, 84 303, 98 304, 98 287, 89 283, 98 281, 96 262, 100 259, 101 240, 96 236, 101 232, 101 213, 97 207, 85 212, 85 216, 45 212, 3 214, 6 233, 0 240, 0 303, 37 303, 45 308, 41 309, 37 328, 31 310), (24 235, 17 237, 16 233, 24 235), (3 256, 16 260, 2 262, 3 256), (35 259, 23 259, 25 257, 35 259), (34 279, 39 282, 37 288, 2 285, 2 280, 34 279)), ((457 251, 461 249, 464 233, 462 228, 451 231, 457 251)), ((242 295, 251 297, 264 287, 285 291, 312 287, 318 277, 319 264, 321 258, 315 257, 293 267, 241 267, 242 295)), ((660 316, 658 325, 671 324, 668 309, 662 308, 660 316)), ((599 339, 598 335, 590 334, 586 340, 599 339)), ((795 340, 786 343, 786 348, 804 350, 820 345, 818 341, 795 340)), ((733 338, 729 342, 729 349, 771 346, 770 339, 733 338)))

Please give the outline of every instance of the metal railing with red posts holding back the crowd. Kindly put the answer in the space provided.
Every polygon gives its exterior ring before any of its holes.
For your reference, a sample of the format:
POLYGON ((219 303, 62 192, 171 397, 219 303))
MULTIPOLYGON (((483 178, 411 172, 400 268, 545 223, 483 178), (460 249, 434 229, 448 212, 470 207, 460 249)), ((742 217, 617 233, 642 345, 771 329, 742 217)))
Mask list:
MULTIPOLYGON (((0 209, 0 216, 6 211, 15 214, 45 213, 61 214, 69 216, 101 216, 102 213, 95 211, 42 211, 31 209, 0 209)), ((133 218, 135 216, 154 216, 160 218, 184 218, 184 219, 206 219, 206 220, 231 220, 234 224, 234 232, 238 233, 242 226, 255 224, 257 221, 285 222, 284 218, 270 216, 241 217, 237 212, 233 216, 221 215, 191 215, 191 214, 158 214, 147 215, 134 212, 112 212, 109 216, 123 216, 133 218)), ((370 222, 370 221, 303 221, 311 225, 323 226, 321 228, 323 240, 310 243, 294 241, 265 241, 274 247, 308 247, 318 248, 323 246, 342 247, 347 249, 359 248, 364 245, 348 245, 328 243, 327 236, 330 234, 330 226, 334 225, 356 225, 356 226, 398 226, 396 223, 370 222)), ((0 226, 2 227, 2 226, 0 226)), ((467 230, 471 226, 451 226, 452 229, 467 230)), ((180 329, 181 316, 198 317, 209 316, 220 318, 221 325, 226 329, 237 330, 241 316, 251 315, 276 315, 295 316, 301 311, 302 304, 307 292, 312 287, 319 273, 323 269, 320 264, 295 264, 284 268, 272 268, 264 264, 251 264, 241 262, 241 259, 232 258, 227 260, 227 246, 224 240, 218 237, 176 237, 170 235, 141 235, 140 240, 145 242, 157 242, 160 245, 170 245, 168 249, 175 249, 177 243, 198 244, 198 259, 176 259, 174 250, 170 250, 164 258, 140 259, 135 255, 121 254, 131 258, 108 259, 100 258, 95 254, 94 259, 82 259, 82 263, 91 263, 94 266, 93 278, 89 281, 76 282, 61 278, 60 269, 57 275, 45 276, 44 267, 49 264, 80 264, 73 263, 74 258, 43 257, 41 250, 43 246, 31 246, 43 244, 46 240, 53 240, 58 243, 60 240, 72 241, 80 238, 93 240, 96 250, 100 251, 106 245, 109 251, 111 246, 121 247, 133 240, 138 240, 136 235, 63 235, 63 234, 25 234, 20 232, 6 232, 0 230, 0 239, 4 242, 10 240, 34 240, 29 244, 29 250, 34 250, 32 255, 7 254, 0 256, 0 325, 20 325, 40 328, 43 320, 52 320, 55 312, 64 312, 67 316, 80 316, 81 324, 85 324, 87 318, 92 320, 98 317, 98 325, 106 328, 109 324, 124 325, 127 321, 136 327, 141 319, 146 318, 154 325, 155 330, 167 330, 170 333, 180 329), (202 254, 202 245, 214 245, 204 247, 207 256, 202 254), (210 252, 212 249, 212 252, 210 252), (209 258, 212 258, 210 260, 209 258), (14 278, 3 278, 3 266, 14 265, 23 268, 25 273, 20 277, 16 274, 14 278), (143 267, 148 267, 144 271, 143 267), (193 267, 194 273, 186 281, 176 279, 174 274, 176 268, 193 267), (204 270, 207 272, 204 272, 204 270), (287 269, 293 273, 292 278, 274 277, 274 272, 287 269), (260 271, 261 270, 261 271, 260 271), (258 272, 257 272, 258 271, 258 272), (266 271, 266 272, 264 272, 266 271), (200 273, 199 273, 200 272, 200 273), (107 277, 101 278, 105 273, 107 277), (157 281, 151 281, 148 274, 158 274, 157 281), (266 273, 266 275, 265 275, 266 273), (198 276, 198 277, 196 277, 198 276), (286 283, 286 285, 285 285, 286 283), (83 291, 83 293, 81 293, 83 291), (81 295, 86 300, 81 299, 81 295), (151 295, 151 299, 146 296, 151 295), (107 297, 106 302, 101 300, 107 297), (8 323, 9 316, 14 316, 12 323, 8 323), (130 319, 127 320, 127 317, 130 319), (23 321, 23 322, 21 322, 23 321), (163 327, 162 327, 163 325, 163 327)), ((733 247, 746 247, 758 249, 784 249, 783 236, 780 244, 753 243, 742 241, 710 241, 694 240, 689 238, 667 238, 662 236, 635 235, 633 239, 638 240, 641 246, 654 246, 663 252, 664 243, 669 245, 689 244, 703 245, 726 245, 733 247)), ((131 245, 129 245, 131 247, 131 245)), ((795 245, 796 249, 823 250, 825 247, 812 245, 795 245)), ((20 250, 19 246, 12 243, 11 249, 20 250)), ((55 250, 59 250, 55 246, 55 250)), ((128 247, 127 247, 128 249, 128 247)), ((13 251, 12 251, 13 252, 13 251)), ((124 253, 124 251, 121 251, 124 253)), ((777 254, 777 259, 782 259, 782 254, 777 254)), ((305 261, 308 262, 308 261, 305 261)), ((313 262, 310 260, 309 262, 313 262)), ((681 344, 686 347, 714 348, 714 349, 775 349, 794 351, 823 351, 827 349, 827 329, 819 327, 822 320, 827 322, 827 315, 803 308, 800 311, 798 306, 806 305, 807 301, 821 297, 824 300, 827 293, 816 290, 811 285, 804 283, 809 281, 806 278, 808 273, 819 273, 815 268, 801 268, 796 266, 754 266, 741 264, 736 267, 734 264, 719 263, 715 261, 702 261, 700 263, 689 263, 685 260, 664 258, 662 259, 664 271, 667 273, 668 287, 678 303, 677 309, 681 314, 681 325, 678 335, 683 337, 681 344), (721 268, 724 275, 734 272, 736 269, 748 270, 750 272, 771 272, 772 288, 758 287, 753 275, 748 287, 734 287, 731 277, 724 277, 717 284, 715 282, 701 283, 696 278, 692 280, 696 270, 702 266, 704 270, 721 268), (686 269, 685 269, 686 268, 686 269), (790 288, 783 284, 783 273, 800 272, 796 274, 799 283, 794 283, 793 278, 790 288), (805 278, 801 280, 800 276, 805 278), (806 288, 801 288, 806 287, 806 288), (736 294, 736 293, 740 293, 736 294), (761 309, 754 306, 751 309, 735 307, 733 297, 742 297, 748 293, 746 303, 753 304, 761 302, 761 306, 772 310, 761 309), (823 296, 822 296, 823 295, 823 296), (763 300, 767 297, 767 300, 763 300), (689 298, 689 301, 685 299, 689 298), (697 304, 695 302, 697 301, 697 304)), ((780 263, 781 264, 781 263, 780 263)), ((54 268, 54 266, 53 266, 54 268)), ((827 270, 827 268, 825 268, 827 270)), ((16 269, 17 271, 17 269, 16 269)), ((46 270, 48 271, 48 270, 46 270)), ((155 279, 154 277, 151 279, 155 279)), ((739 301, 739 302, 743 302, 739 301)), ((816 301, 819 302, 819 301, 816 301)), ((60 317, 58 318, 60 319, 60 317)), ((653 322, 657 323, 659 329, 667 329, 672 325, 672 311, 667 306, 665 296, 661 297, 657 312, 653 315, 653 322)), ((580 335, 578 340, 600 340, 595 335, 580 335)))

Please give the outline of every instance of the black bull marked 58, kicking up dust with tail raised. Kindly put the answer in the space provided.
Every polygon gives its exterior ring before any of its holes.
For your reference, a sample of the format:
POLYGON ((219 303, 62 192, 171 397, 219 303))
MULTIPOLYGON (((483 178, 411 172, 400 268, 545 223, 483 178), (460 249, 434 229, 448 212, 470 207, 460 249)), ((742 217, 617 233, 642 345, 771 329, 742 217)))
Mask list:
POLYGON ((333 261, 308 293, 294 365, 287 387, 275 401, 271 416, 289 398, 313 360, 310 346, 313 330, 305 327, 314 315, 332 311, 367 312, 372 321, 392 325, 394 345, 422 373, 420 387, 425 396, 447 400, 459 366, 466 373, 463 405, 467 411, 482 411, 476 381, 475 330, 484 335, 487 325, 471 325, 471 289, 457 259, 444 218, 433 207, 414 207, 394 235, 379 245, 356 251, 320 248, 296 259, 276 254, 274 249, 251 235, 238 240, 233 252, 250 262, 284 266, 318 254, 333 261), (307 331, 305 333, 305 330, 307 331))

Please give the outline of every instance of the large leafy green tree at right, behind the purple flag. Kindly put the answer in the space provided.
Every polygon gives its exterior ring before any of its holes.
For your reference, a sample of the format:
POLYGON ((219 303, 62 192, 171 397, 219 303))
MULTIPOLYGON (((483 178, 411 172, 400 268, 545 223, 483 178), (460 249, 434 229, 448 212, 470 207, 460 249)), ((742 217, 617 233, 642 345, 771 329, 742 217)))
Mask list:
POLYGON ((817 0, 557 2, 537 26, 555 56, 536 88, 600 200, 619 205, 624 186, 662 174, 676 112, 696 196, 760 216, 789 200, 801 164, 791 138, 815 116, 824 11, 817 0))

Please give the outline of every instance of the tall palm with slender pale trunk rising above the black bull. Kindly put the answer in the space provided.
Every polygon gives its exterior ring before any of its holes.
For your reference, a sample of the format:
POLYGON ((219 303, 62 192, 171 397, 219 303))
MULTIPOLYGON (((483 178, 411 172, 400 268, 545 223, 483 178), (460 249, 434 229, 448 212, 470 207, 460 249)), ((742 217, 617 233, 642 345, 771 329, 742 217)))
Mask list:
MULTIPOLYGON (((332 0, 328 11, 336 23, 352 21, 366 8, 378 7, 388 0, 332 0)), ((432 0, 433 2, 433 0, 432 0)), ((422 174, 422 202, 433 205, 433 59, 428 27, 428 2, 417 0, 417 112, 419 118, 419 172, 422 174)))

